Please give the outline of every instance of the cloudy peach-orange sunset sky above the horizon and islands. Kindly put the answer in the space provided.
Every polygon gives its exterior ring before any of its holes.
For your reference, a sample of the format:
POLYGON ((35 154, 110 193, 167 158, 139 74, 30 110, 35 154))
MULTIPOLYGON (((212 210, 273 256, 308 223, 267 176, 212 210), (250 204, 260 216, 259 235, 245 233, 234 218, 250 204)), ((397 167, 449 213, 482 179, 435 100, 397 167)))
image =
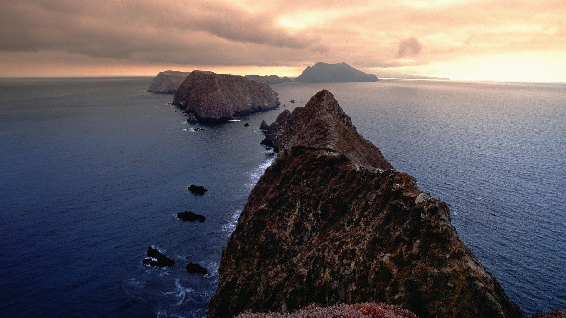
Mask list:
POLYGON ((2 0, 0 76, 370 74, 566 82, 566 0, 2 0))

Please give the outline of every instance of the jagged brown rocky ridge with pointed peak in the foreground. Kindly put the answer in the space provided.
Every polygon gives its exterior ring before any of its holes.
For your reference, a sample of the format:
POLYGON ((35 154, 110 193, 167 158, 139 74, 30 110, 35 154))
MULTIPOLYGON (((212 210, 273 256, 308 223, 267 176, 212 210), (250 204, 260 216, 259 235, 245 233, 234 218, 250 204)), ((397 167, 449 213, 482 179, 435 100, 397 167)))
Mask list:
POLYGON ((419 317, 520 317, 447 204, 387 170, 331 93, 282 113, 267 139, 281 152, 222 250, 209 317, 359 302, 419 317), (356 150, 366 146, 367 156, 356 150))

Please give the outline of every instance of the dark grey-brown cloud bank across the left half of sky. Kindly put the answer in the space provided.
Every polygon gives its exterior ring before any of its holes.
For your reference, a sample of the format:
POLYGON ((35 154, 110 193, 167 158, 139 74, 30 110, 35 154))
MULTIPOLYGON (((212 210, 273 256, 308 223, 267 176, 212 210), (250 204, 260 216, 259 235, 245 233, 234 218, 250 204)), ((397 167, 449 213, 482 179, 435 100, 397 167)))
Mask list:
POLYGON ((3 1, 0 8, 0 50, 5 51, 62 50, 103 58, 211 63, 219 62, 214 57, 234 59, 239 44, 260 46, 260 51, 325 50, 313 38, 277 27, 268 15, 220 2, 23 0, 3 1), (171 57, 175 51, 181 54, 171 57))

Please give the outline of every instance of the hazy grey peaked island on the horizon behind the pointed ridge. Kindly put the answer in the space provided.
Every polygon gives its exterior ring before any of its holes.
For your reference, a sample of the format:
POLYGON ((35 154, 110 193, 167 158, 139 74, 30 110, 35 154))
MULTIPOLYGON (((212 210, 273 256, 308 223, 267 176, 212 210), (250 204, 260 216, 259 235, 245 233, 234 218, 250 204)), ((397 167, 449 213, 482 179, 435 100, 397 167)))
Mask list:
POLYGON ((297 76, 294 81, 307 83, 340 83, 353 81, 378 81, 378 77, 356 70, 348 64, 328 64, 318 62, 314 66, 307 66, 303 74, 297 76))

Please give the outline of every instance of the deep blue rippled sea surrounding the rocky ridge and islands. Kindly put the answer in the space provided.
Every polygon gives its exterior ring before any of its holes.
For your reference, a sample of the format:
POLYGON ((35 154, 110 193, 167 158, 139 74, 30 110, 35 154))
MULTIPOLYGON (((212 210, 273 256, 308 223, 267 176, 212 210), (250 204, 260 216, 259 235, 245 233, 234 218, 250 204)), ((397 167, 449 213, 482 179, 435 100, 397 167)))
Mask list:
POLYGON ((221 249, 275 158, 257 127, 323 88, 398 170, 447 201, 521 310, 566 308, 565 85, 276 84, 286 108, 191 125, 173 95, 145 92, 150 81, 0 79, 3 316, 204 316, 221 249), (209 191, 192 195, 191 183, 209 191), (207 220, 176 220, 185 210, 207 220), (141 264, 149 245, 177 265, 141 264), (209 274, 188 274, 189 261, 209 274))

